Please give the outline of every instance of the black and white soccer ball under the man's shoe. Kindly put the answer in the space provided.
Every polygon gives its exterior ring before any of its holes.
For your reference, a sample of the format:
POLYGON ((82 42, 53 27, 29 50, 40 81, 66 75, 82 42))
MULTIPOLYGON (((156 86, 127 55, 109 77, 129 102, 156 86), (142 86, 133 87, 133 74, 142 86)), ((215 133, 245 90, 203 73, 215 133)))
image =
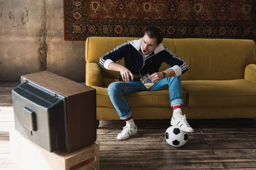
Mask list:
POLYGON ((180 130, 177 127, 170 126, 166 130, 165 138, 166 142, 171 146, 181 147, 188 141, 189 133, 180 130))

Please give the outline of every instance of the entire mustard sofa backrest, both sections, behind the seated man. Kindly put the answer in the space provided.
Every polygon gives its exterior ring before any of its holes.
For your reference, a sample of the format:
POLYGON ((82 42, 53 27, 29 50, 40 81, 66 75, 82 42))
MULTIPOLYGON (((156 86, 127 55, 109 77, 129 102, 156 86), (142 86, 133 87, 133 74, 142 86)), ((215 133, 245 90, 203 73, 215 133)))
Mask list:
MULTIPOLYGON (((116 46, 134 37, 88 37, 86 40, 86 62, 96 62, 116 46)), ((244 68, 256 63, 256 45, 253 40, 231 39, 168 39, 162 42, 170 51, 185 60, 189 71, 182 80, 229 80, 243 79, 244 68)), ((124 60, 117 62, 124 65, 124 60)), ((169 65, 163 63, 160 71, 169 65)), ((103 78, 117 79, 118 72, 101 67, 103 78)))

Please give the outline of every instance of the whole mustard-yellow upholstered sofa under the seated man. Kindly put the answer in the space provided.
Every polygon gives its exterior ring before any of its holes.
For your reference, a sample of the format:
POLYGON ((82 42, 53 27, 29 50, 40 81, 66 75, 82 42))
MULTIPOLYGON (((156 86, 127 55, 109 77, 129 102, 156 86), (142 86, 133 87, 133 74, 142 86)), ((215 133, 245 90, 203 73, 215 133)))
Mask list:
MULTIPOLYGON (((116 46, 140 38, 88 37, 86 85, 97 92, 97 119, 120 119, 107 92, 119 72, 99 65, 100 57, 116 46)), ((163 39, 166 47, 184 59, 189 70, 181 76, 188 119, 256 118, 256 45, 253 40, 163 39)), ((124 60, 117 63, 124 65, 124 60)), ((169 65, 163 63, 160 71, 169 65)), ((134 119, 171 119, 169 91, 126 95, 134 119)))

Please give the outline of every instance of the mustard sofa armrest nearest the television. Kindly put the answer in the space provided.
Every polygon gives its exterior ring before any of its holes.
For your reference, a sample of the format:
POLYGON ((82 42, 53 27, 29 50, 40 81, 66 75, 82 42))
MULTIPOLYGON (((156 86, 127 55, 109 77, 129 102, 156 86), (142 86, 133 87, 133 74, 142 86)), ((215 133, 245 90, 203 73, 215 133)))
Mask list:
POLYGON ((87 62, 85 71, 85 85, 102 87, 102 73, 99 64, 87 62))

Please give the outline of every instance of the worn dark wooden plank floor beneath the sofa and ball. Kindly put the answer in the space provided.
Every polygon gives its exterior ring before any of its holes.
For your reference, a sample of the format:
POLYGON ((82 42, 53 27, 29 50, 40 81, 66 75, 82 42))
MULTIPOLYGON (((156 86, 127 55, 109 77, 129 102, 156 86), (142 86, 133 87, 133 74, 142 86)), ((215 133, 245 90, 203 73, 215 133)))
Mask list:
MULTIPOLYGON (((9 129, 14 127, 11 90, 0 83, 0 170, 20 170, 10 160, 9 129), (7 107, 6 107, 7 106, 7 107)), ((190 119, 194 133, 180 148, 167 144, 170 120, 137 120, 138 133, 119 141, 124 121, 100 121, 100 170, 256 170, 256 119, 190 119)))

